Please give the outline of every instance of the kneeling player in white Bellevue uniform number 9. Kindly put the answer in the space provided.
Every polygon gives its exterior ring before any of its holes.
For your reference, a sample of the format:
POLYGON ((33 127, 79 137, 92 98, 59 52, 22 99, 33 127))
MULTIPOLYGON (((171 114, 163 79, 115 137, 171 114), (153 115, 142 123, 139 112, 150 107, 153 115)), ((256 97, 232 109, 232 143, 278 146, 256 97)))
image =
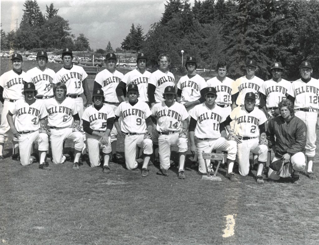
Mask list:
POLYGON ((125 164, 128 170, 137 168, 136 146, 143 148, 144 161, 142 166, 142 177, 148 176, 148 163, 153 153, 152 144, 152 119, 150 107, 138 100, 138 86, 130 84, 127 88, 128 101, 122 102, 115 111, 115 122, 117 132, 125 137, 124 154, 125 164), (118 119, 122 117, 121 126, 118 119), (147 129, 147 133, 146 133, 147 129), (146 135, 145 135, 146 134, 146 135))

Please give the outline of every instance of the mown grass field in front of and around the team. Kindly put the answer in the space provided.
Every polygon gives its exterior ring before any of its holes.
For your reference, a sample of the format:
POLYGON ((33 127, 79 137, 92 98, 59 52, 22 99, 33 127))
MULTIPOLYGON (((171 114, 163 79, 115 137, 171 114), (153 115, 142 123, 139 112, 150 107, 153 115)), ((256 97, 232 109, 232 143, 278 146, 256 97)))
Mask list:
MULTIPOLYGON (((3 64, 1 74, 6 71, 3 64)), ((67 147, 72 147, 70 142, 67 147)), ((39 170, 36 163, 22 167, 10 158, 11 136, 4 156, 0 244, 319 242, 318 180, 305 174, 300 185, 268 180, 257 184, 256 171, 234 183, 221 169, 221 182, 204 181, 190 169, 188 154, 185 180, 177 178, 175 167, 164 177, 153 165, 150 175, 142 178, 139 171, 124 167, 123 139, 118 141, 120 161, 110 164, 110 174, 88 165, 76 171, 69 162, 50 162, 51 171, 39 170)), ((177 154, 172 157, 177 159, 177 154)), ((318 162, 316 156, 315 173, 318 162)))

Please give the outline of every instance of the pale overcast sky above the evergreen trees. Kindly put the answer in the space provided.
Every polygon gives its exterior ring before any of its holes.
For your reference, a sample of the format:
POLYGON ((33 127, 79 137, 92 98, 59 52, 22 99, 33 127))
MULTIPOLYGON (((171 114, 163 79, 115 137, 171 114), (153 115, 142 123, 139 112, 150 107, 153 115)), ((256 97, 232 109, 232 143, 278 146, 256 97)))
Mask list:
MULTIPOLYGON (((7 33, 18 28, 23 15, 24 0, 1 0, 2 29, 7 33)), ((130 31, 132 23, 141 24, 144 34, 150 25, 157 22, 164 12, 166 0, 38 0, 45 13, 46 5, 54 4, 59 9, 58 15, 69 20, 71 32, 76 37, 83 33, 89 39, 90 47, 105 49, 108 41, 113 49, 130 31)), ((194 1, 190 1, 194 2, 194 1)))

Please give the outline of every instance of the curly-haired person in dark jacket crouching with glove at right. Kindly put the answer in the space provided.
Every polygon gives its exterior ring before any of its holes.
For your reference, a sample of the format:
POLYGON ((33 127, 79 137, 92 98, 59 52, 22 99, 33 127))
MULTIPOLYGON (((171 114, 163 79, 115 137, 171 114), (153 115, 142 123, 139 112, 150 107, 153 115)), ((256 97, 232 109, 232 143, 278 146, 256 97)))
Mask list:
POLYGON ((272 162, 281 160, 280 170, 269 168, 268 178, 278 180, 279 177, 292 176, 293 182, 299 182, 299 172, 306 166, 305 146, 307 141, 306 124, 294 115, 293 104, 283 99, 278 104, 280 116, 269 122, 267 129, 268 146, 275 157, 272 162), (276 140, 275 140, 276 136, 276 140))

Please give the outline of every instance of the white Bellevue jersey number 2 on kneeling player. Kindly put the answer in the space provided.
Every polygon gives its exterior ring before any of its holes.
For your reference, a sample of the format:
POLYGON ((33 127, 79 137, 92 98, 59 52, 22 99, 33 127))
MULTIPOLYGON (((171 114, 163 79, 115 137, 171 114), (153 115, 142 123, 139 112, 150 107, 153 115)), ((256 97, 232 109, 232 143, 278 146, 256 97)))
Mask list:
POLYGON ((238 106, 229 116, 235 120, 234 133, 240 137, 258 137, 258 126, 267 121, 265 113, 256 107, 248 113, 245 106, 238 106))

